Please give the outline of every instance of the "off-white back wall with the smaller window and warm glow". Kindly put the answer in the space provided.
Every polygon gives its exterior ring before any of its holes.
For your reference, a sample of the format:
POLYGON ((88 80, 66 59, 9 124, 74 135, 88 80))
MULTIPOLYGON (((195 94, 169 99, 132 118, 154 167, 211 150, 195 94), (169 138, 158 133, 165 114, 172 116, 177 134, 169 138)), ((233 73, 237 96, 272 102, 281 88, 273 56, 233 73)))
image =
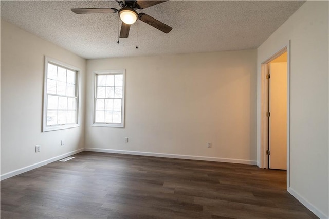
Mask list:
POLYGON ((256 50, 88 60, 85 146, 255 163, 256 63, 256 50), (126 69, 124 129, 91 126, 93 71, 108 69, 126 69))

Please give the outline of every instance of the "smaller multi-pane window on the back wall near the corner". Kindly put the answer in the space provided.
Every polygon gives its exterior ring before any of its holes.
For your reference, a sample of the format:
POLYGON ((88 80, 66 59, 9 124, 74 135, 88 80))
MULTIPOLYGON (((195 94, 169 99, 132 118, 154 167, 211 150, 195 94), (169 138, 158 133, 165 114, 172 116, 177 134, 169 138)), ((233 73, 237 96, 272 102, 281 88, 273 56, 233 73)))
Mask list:
POLYGON ((124 70, 95 72, 93 126, 124 126, 124 70))

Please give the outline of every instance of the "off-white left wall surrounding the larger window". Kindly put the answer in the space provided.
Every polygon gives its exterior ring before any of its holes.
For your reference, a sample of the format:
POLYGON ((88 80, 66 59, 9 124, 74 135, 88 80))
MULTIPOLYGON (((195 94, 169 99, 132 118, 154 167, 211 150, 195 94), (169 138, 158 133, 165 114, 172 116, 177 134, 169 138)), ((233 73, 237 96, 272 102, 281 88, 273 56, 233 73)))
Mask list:
MULTIPOLYGON (((85 92, 86 61, 1 21, 1 175, 44 160, 83 149, 81 127, 41 132, 44 82, 44 56, 82 70, 82 97, 85 92), (65 145, 61 146, 61 139, 65 145), (35 145, 41 152, 35 153, 35 145)), ((84 99, 82 112, 84 117, 84 99)))

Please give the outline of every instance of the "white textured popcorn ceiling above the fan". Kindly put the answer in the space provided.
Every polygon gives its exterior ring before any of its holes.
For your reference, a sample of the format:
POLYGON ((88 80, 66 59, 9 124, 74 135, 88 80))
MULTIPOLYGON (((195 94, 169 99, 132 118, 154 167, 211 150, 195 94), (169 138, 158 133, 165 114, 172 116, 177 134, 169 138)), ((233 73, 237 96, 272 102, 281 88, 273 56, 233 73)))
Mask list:
POLYGON ((1 1, 1 17, 86 59, 257 48, 304 1, 168 1, 144 12, 173 27, 166 34, 137 21, 118 40, 119 17, 75 14, 71 8, 115 1, 1 1), (138 29, 138 49, 136 32, 138 29))

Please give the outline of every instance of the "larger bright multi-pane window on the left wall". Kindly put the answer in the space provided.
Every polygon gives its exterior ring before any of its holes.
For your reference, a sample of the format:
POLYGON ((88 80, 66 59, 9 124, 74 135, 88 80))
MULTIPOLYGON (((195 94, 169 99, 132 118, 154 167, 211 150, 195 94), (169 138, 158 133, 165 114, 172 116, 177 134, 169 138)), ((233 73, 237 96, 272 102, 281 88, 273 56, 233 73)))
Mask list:
POLYGON ((79 69, 45 58, 43 132, 79 127, 79 69))

